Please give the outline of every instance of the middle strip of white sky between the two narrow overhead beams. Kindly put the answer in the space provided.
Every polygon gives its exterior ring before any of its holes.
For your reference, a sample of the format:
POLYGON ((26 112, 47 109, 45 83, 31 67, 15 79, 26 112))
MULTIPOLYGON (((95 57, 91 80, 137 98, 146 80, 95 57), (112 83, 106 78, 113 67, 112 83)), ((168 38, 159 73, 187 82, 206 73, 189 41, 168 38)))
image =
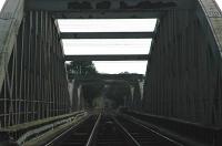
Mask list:
POLYGON ((65 54, 148 54, 151 39, 65 39, 65 54))

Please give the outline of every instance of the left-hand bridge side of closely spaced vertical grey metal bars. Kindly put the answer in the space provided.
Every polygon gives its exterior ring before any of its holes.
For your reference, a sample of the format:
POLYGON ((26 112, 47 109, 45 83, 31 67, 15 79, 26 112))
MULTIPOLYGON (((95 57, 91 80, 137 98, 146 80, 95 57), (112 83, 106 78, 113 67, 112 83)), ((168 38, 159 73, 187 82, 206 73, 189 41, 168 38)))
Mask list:
POLYGON ((48 12, 26 11, 0 88, 1 127, 69 112, 63 53, 48 12))

